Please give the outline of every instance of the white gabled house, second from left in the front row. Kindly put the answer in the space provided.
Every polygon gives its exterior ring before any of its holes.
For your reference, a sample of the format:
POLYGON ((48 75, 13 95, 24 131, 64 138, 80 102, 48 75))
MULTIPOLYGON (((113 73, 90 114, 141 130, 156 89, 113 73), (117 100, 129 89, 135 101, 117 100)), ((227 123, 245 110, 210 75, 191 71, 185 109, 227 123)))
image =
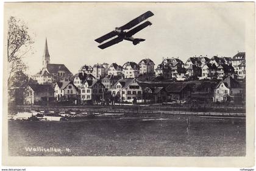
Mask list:
POLYGON ((77 99, 79 89, 73 82, 57 82, 54 86, 54 97, 57 101, 77 99))

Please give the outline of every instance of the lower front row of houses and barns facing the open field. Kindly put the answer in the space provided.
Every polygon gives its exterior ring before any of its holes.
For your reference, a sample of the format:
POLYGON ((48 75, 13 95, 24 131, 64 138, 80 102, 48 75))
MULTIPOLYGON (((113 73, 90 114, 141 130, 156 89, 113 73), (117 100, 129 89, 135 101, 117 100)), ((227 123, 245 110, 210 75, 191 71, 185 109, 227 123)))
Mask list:
MULTIPOLYGON (((92 75, 91 75, 92 76, 92 75)), ((105 88, 101 80, 80 79, 51 85, 29 85, 25 102, 35 104, 44 101, 68 101, 76 104, 114 100, 117 102, 172 102, 192 99, 204 102, 245 102, 245 84, 230 75, 219 82, 197 80, 194 82, 139 82, 135 79, 119 79, 112 88, 105 88), (76 82, 76 83, 75 83, 76 82), (135 101, 134 101, 135 100, 135 101), (143 101, 144 100, 144 101, 143 101)), ((93 76, 92 76, 93 77, 93 76)))

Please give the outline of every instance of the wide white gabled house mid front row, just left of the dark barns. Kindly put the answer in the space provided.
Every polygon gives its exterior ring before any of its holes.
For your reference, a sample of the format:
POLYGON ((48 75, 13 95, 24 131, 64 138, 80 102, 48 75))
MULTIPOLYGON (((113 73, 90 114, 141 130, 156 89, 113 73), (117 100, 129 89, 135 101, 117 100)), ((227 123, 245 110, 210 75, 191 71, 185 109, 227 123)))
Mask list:
POLYGON ((112 96, 118 96, 122 101, 129 101, 133 98, 142 99, 143 93, 141 86, 134 79, 119 80, 111 88, 112 96))

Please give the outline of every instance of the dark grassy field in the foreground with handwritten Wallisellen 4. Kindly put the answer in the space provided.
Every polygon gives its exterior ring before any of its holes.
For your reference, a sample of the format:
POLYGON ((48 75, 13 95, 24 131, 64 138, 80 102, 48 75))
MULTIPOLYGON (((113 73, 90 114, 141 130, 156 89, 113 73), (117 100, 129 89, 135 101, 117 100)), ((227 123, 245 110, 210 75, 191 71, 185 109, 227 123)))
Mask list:
POLYGON ((9 155, 246 155, 245 119, 196 116, 165 119, 98 117, 73 122, 9 121, 9 155))

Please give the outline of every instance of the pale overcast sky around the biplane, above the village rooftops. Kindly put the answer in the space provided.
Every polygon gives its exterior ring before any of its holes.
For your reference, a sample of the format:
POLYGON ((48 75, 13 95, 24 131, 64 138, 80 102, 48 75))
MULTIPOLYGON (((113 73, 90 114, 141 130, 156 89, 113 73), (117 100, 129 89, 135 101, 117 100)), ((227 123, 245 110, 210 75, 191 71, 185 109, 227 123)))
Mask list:
POLYGON ((247 3, 12 3, 5 4, 5 23, 15 16, 27 23, 35 43, 34 54, 24 59, 29 74, 41 69, 47 37, 51 63, 63 63, 76 74, 82 65, 151 58, 155 65, 163 57, 184 62, 194 55, 233 57, 245 51, 246 19, 254 4, 247 3), (146 41, 133 46, 123 41, 99 49, 94 39, 123 26, 151 10, 152 26, 135 38, 146 41), (249 11, 249 12, 248 12, 249 11))

